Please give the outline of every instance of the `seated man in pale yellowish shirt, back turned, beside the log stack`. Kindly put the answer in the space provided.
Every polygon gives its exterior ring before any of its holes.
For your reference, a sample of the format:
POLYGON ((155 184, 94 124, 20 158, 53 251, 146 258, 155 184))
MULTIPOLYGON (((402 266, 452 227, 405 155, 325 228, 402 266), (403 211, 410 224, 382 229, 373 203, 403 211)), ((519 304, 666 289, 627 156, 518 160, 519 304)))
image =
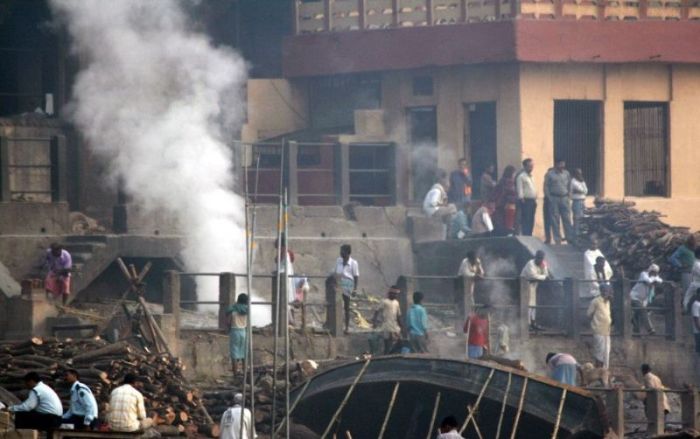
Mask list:
POLYGON ((133 374, 124 376, 123 384, 112 390, 109 397, 107 422, 112 431, 132 432, 153 426, 153 420, 146 417, 143 395, 137 390, 143 383, 133 374))

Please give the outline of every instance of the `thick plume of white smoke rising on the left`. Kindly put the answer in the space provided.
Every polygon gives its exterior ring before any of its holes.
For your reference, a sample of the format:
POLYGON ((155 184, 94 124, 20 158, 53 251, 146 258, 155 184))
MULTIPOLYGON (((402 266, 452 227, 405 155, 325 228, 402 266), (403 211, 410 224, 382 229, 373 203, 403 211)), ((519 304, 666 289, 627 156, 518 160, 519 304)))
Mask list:
MULTIPOLYGON (((243 59, 192 30, 176 0, 51 5, 82 68, 71 118, 111 183, 177 220, 188 270, 245 272, 244 203, 226 144, 242 119, 243 59)), ((199 299, 217 300, 215 278, 202 279, 199 299)))

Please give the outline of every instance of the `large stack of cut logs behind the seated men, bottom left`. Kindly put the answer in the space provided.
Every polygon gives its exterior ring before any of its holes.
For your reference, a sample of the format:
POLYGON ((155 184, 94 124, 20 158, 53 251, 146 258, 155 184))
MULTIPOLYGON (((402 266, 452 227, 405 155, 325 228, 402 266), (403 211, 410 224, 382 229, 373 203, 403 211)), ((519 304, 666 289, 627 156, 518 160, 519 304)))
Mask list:
POLYGON ((63 372, 76 369, 80 381, 90 386, 104 420, 109 395, 127 373, 144 381, 146 411, 163 435, 197 433, 218 436, 198 392, 183 377, 183 365, 167 354, 149 354, 127 341, 107 343, 99 337, 88 340, 32 338, 0 344, 0 401, 16 403, 27 396, 22 377, 37 372, 53 387, 64 406, 68 406, 70 388, 62 380, 63 372))

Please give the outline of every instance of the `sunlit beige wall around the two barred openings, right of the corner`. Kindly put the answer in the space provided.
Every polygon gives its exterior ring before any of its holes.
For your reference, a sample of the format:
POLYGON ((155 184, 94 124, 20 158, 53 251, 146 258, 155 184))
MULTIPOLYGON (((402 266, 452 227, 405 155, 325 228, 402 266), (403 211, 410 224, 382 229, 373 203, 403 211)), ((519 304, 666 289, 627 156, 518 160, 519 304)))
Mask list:
MULTIPOLYGON (((662 212, 671 224, 700 229, 700 177, 694 167, 700 160, 700 66, 522 64, 519 70, 522 156, 535 160, 540 186, 554 160, 555 100, 603 102, 601 187, 602 195, 612 199, 624 197, 624 103, 668 102, 671 196, 626 199, 640 209, 662 212)), ((541 223, 540 210, 540 233, 541 223)))

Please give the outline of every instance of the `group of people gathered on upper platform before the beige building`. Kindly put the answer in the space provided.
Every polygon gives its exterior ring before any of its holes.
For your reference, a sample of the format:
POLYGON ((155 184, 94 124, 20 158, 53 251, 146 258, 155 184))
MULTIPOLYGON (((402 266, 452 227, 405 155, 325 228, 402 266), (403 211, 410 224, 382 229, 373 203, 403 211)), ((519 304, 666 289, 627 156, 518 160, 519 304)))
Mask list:
MULTIPOLYGON (((473 180, 466 159, 447 175, 438 171, 435 184, 423 200, 428 217, 448 224, 448 237, 531 236, 535 226, 539 191, 533 176, 535 163, 528 158, 522 168, 506 166, 500 179, 490 165, 480 176, 480 202, 472 200, 473 180)), ((574 242, 580 233, 588 187, 580 169, 571 176, 566 162, 557 160, 545 174, 543 219, 547 243, 574 242), (573 211, 573 219, 572 219, 573 211), (563 235, 562 235, 563 228, 563 235)))

